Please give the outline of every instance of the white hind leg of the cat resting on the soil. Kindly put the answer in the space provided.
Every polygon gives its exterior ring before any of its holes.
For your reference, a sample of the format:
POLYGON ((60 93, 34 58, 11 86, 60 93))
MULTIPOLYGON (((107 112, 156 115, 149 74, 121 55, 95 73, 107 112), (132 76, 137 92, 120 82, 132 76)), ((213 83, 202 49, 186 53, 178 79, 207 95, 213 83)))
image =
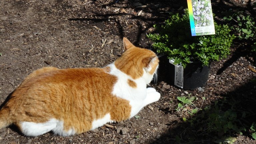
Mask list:
POLYGON ((36 122, 20 122, 18 127, 20 131, 26 136, 39 136, 45 134, 54 128, 56 128, 57 123, 59 121, 56 119, 50 119, 44 123, 36 123, 36 122))

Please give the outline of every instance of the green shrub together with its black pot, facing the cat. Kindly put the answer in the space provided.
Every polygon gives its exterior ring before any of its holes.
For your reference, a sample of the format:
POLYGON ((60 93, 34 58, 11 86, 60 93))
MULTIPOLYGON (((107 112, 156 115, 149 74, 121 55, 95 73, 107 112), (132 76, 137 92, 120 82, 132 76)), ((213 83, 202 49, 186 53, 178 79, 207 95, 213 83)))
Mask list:
MULTIPOLYGON (((177 85, 183 89, 196 89, 205 85, 211 61, 226 58, 235 38, 227 25, 215 22, 214 35, 191 36, 187 10, 182 16, 171 14, 163 25, 155 24, 154 27, 156 33, 150 33, 147 37, 154 42, 152 46, 158 53, 166 54, 179 67, 178 71, 183 70, 183 87, 177 85)), ((177 76, 177 73, 172 75, 177 76)))

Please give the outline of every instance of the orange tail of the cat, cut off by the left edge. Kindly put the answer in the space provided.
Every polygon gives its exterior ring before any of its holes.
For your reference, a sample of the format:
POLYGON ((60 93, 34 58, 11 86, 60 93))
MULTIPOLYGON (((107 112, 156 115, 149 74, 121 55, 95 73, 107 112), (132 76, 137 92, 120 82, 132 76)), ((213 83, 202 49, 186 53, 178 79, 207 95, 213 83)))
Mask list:
POLYGON ((5 128, 11 124, 10 111, 8 108, 2 108, 0 110, 0 129, 5 128))

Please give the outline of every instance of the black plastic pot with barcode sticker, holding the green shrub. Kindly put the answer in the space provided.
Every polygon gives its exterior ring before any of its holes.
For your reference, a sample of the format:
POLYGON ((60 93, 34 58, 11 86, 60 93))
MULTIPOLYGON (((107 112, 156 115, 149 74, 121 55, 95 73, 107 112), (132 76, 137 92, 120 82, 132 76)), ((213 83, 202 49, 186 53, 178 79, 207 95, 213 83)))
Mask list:
POLYGON ((184 69, 183 67, 181 67, 181 65, 174 65, 170 62, 171 84, 184 90, 194 90, 199 87, 205 86, 209 77, 210 66, 202 66, 202 63, 200 62, 192 62, 187 64, 184 69), (178 68, 178 70, 177 66, 180 67, 178 68), (183 69, 183 77, 180 73, 181 69, 183 69))

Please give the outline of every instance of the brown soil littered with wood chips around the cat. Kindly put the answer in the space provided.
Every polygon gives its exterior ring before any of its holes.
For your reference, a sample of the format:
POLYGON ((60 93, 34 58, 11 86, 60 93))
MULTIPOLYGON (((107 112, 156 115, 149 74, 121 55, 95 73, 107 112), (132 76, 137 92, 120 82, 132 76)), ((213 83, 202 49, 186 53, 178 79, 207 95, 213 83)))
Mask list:
MULTIPOLYGON (((212 1, 213 12, 241 8, 255 14, 255 1, 212 1)), ((136 46, 152 49, 146 33, 153 24, 168 18, 169 12, 186 8, 186 1, 145 0, 4 0, 0 1, 0 102, 14 91, 32 71, 53 66, 58 68, 103 67, 120 57, 122 38, 136 46), (107 3, 108 2, 108 3, 107 3)), ((136 117, 110 123, 83 134, 61 137, 46 133, 25 137, 14 127, 0 130, 0 143, 7 144, 169 144, 177 143, 176 135, 193 137, 194 143, 212 143, 209 137, 197 137, 196 129, 187 129, 182 114, 177 112, 177 96, 191 93, 197 105, 207 106, 215 100, 232 96, 241 99, 241 107, 255 110, 255 57, 234 42, 232 54, 212 62, 204 92, 185 91, 169 84, 159 74, 152 83, 160 93, 158 102, 142 109, 136 117)), ((162 58, 160 69, 165 69, 162 58)), ((255 117, 254 117, 255 118, 255 117)), ((254 119, 255 120, 255 119, 254 119)), ((256 143, 250 135, 235 136, 237 144, 256 143)))

